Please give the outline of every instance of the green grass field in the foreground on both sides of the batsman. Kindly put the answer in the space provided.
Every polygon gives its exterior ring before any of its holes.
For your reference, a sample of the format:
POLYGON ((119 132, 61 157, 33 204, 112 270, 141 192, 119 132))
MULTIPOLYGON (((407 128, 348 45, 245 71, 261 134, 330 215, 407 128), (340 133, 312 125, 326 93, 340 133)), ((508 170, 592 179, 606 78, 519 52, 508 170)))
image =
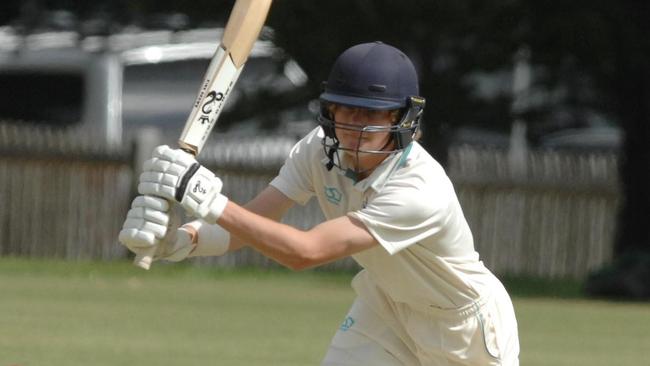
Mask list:
MULTIPOLYGON (((318 365, 351 274, 0 258, 0 366, 318 365)), ((650 304, 506 280, 521 364, 648 365, 650 304)))

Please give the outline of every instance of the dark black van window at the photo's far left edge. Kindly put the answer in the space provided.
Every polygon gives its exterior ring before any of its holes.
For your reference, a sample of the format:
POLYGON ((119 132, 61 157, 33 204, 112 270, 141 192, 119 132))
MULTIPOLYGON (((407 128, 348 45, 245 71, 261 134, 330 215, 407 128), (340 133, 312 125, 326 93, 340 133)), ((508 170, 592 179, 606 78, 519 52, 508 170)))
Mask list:
POLYGON ((81 121, 81 74, 0 72, 0 120, 67 126, 81 121))

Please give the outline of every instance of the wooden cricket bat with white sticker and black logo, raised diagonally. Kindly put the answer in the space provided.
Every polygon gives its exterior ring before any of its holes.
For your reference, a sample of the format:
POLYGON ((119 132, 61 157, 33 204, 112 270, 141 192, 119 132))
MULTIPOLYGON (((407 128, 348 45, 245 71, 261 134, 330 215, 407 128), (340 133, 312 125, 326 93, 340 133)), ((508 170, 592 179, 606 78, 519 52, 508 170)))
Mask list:
MULTIPOLYGON (((192 106, 178 144, 198 155, 230 95, 246 59, 262 30, 271 0, 237 0, 230 13, 223 37, 210 61, 196 101, 192 106)), ((134 264, 149 269, 156 248, 136 256, 134 264)))

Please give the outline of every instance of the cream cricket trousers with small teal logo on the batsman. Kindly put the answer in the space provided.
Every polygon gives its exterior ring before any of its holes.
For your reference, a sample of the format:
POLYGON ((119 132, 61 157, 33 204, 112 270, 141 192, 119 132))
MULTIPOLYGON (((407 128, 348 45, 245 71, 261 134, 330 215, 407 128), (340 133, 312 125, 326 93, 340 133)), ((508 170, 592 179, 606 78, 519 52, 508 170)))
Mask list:
POLYGON ((515 313, 498 281, 489 296, 453 310, 375 294, 354 301, 323 366, 519 365, 515 313))

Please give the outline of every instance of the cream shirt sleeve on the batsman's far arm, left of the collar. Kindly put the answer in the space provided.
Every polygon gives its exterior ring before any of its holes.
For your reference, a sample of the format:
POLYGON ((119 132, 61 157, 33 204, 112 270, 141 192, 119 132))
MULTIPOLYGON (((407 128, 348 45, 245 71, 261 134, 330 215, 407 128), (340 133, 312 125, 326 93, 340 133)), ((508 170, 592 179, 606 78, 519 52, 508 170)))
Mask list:
POLYGON ((278 176, 270 183, 300 205, 305 205, 314 195, 312 167, 315 158, 314 144, 319 143, 319 129, 310 132, 294 145, 278 176))

